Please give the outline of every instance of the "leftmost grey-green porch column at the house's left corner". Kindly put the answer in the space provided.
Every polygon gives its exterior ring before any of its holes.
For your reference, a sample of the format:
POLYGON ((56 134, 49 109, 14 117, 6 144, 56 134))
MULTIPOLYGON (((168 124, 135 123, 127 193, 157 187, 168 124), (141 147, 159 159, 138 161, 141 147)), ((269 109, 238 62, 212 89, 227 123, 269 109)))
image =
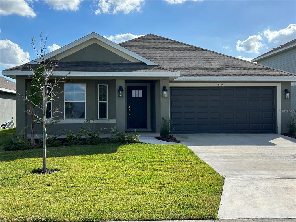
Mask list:
MULTIPOLYGON (((27 91, 27 81, 25 79, 17 79, 16 80, 16 105, 17 105, 17 134, 22 131, 22 129, 27 126, 27 105, 25 104, 25 99, 22 96, 26 95, 27 91), (20 96, 20 94, 22 96, 20 96)), ((30 130, 30 129, 29 129, 30 130)), ((27 137, 27 132, 28 130, 26 129, 24 131, 25 136, 27 137)))

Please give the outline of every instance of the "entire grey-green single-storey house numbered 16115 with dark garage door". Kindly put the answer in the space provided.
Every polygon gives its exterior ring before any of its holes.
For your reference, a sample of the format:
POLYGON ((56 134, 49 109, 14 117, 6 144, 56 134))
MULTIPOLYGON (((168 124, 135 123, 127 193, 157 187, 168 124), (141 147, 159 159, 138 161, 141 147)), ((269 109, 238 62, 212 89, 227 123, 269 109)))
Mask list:
MULTIPOLYGON (((291 113, 281 110, 291 102, 284 89, 296 81, 289 72, 153 34, 116 44, 91 33, 46 55, 51 58, 59 61, 55 75, 71 71, 51 104, 62 106, 51 132, 78 131, 85 119, 96 128, 159 132, 169 116, 175 133, 287 132, 291 113)), ((28 65, 36 68, 36 61, 28 65)), ((22 95, 30 74, 26 65, 3 70, 22 95)), ((25 109, 17 100, 18 132, 30 126, 25 109)))

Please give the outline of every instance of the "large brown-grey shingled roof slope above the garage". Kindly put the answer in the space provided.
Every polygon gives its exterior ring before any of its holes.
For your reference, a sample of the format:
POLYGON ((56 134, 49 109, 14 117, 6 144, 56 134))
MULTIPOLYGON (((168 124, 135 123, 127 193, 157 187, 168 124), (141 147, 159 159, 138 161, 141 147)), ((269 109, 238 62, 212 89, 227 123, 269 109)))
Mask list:
POLYGON ((162 67, 180 72, 181 77, 296 77, 293 73, 154 34, 119 45, 162 67))

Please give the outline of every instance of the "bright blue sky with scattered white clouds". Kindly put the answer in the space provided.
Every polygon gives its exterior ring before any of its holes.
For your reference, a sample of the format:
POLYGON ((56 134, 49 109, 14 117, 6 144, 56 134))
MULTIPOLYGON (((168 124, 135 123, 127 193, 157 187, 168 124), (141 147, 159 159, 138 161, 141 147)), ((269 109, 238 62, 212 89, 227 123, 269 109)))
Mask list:
MULTIPOLYGON (((132 34, 125 39, 154 33, 246 59, 296 38, 296 1, 3 2, 1 70, 22 64, 28 55, 34 59, 30 40, 41 31, 48 46, 64 46, 91 32, 132 34)), ((111 40, 122 41, 122 36, 111 40)))

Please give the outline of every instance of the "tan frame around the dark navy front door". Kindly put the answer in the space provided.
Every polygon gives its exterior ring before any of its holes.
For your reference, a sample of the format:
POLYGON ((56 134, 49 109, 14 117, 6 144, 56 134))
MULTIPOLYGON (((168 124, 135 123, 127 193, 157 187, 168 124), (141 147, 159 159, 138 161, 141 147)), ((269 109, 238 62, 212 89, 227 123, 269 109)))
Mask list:
MULTIPOLYGON (((127 107, 127 89, 128 86, 147 86, 147 129, 151 129, 151 94, 150 94, 150 83, 125 83, 124 84, 124 97, 125 107, 127 107)), ((126 109, 125 109, 126 110, 126 109)), ((125 112, 126 130, 128 129, 128 114, 125 112)))

